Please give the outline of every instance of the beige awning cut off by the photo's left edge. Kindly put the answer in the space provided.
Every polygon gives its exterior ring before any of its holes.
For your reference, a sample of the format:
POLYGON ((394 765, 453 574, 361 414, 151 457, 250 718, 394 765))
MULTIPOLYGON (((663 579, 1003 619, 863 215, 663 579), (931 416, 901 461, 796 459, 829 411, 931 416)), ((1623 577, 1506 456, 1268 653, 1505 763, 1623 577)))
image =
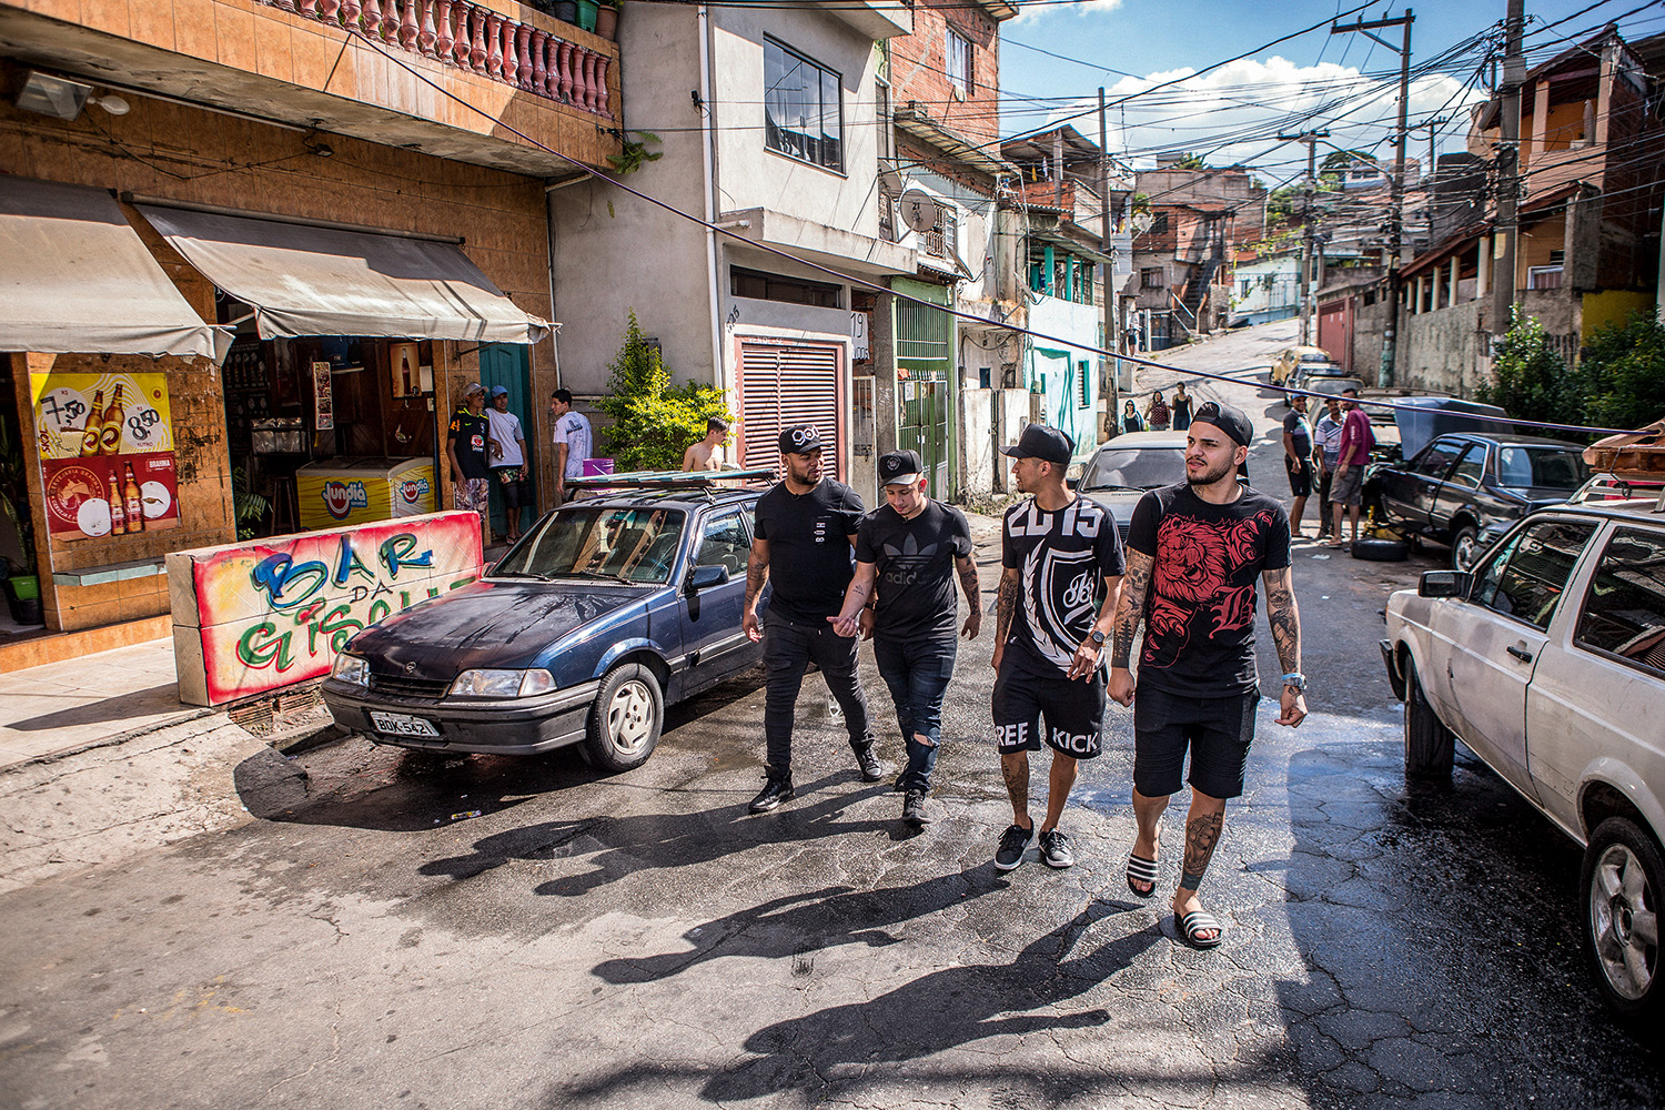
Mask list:
POLYGON ((216 336, 110 193, 0 176, 0 351, 216 358, 216 336))

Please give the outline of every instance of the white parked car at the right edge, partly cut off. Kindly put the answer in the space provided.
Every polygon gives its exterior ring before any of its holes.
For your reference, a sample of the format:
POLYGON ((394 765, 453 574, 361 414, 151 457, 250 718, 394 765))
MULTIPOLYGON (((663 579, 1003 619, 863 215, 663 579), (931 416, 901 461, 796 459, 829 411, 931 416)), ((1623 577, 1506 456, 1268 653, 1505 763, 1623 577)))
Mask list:
POLYGON ((1452 739, 1585 845, 1585 942, 1620 1013, 1665 1013, 1665 513, 1553 506, 1472 571, 1387 602, 1407 776, 1450 777, 1452 739))

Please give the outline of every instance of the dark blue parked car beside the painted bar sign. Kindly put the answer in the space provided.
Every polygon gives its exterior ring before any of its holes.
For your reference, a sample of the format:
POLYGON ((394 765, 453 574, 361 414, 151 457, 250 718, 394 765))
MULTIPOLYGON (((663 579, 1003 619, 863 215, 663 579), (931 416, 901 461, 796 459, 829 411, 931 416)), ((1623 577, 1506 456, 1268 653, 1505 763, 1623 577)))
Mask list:
POLYGON ((330 714, 378 744, 641 766, 668 704, 761 656, 741 631, 758 496, 678 484, 549 513, 478 582, 355 636, 330 714))

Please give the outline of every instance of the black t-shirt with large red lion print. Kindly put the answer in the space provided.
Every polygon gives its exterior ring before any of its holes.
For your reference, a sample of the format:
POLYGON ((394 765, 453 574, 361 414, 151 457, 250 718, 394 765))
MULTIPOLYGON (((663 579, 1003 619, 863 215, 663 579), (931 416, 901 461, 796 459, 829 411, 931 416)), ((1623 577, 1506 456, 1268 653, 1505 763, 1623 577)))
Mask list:
POLYGON ((1255 579, 1289 566, 1289 514, 1249 486, 1210 504, 1179 483, 1134 506, 1127 546, 1154 559, 1139 684, 1187 697, 1259 689, 1255 579))

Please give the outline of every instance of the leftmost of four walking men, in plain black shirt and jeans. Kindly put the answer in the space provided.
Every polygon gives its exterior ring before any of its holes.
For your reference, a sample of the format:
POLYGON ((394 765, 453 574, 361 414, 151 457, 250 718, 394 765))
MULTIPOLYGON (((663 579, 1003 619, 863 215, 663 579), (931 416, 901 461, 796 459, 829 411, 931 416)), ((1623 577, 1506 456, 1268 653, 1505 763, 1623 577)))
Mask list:
POLYGON ((746 636, 763 641, 769 674, 763 711, 766 782, 751 802, 754 814, 793 799, 793 709, 811 661, 844 711, 861 777, 866 782, 884 777, 867 729, 867 697, 856 677, 856 641, 828 622, 844 604, 844 587, 854 572, 849 554, 861 526, 861 498, 844 483, 821 476, 821 433, 814 424, 784 429, 779 443, 783 479, 758 498, 741 614, 746 636), (768 626, 759 631, 758 594, 766 581, 774 591, 768 626))

